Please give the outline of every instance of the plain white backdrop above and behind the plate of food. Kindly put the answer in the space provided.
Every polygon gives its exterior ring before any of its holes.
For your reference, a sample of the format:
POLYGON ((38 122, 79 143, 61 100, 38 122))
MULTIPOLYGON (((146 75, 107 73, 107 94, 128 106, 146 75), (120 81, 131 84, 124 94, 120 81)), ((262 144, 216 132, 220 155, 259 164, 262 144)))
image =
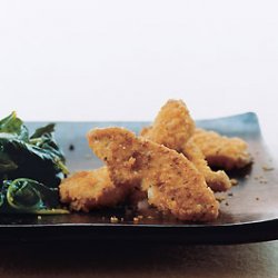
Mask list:
POLYGON ((278 148, 278 1, 0 1, 0 117, 255 111, 278 148))

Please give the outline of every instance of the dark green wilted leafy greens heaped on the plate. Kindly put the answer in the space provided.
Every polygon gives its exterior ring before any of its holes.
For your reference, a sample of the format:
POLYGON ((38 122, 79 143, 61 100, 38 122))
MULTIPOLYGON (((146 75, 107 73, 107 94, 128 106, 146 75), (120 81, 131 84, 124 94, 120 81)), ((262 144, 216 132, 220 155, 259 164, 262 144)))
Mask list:
POLYGON ((53 131, 50 123, 29 136, 16 112, 0 120, 0 211, 57 212, 68 169, 53 131))

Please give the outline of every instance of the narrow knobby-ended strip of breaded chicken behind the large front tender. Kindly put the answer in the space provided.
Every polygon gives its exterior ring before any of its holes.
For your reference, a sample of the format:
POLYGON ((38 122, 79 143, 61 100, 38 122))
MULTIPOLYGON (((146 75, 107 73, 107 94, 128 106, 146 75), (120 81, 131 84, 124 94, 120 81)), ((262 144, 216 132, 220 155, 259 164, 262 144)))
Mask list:
POLYGON ((198 146, 189 139, 182 149, 182 153, 193 162, 196 168, 203 175, 207 185, 214 191, 226 191, 231 187, 231 181, 225 171, 212 171, 198 146))

